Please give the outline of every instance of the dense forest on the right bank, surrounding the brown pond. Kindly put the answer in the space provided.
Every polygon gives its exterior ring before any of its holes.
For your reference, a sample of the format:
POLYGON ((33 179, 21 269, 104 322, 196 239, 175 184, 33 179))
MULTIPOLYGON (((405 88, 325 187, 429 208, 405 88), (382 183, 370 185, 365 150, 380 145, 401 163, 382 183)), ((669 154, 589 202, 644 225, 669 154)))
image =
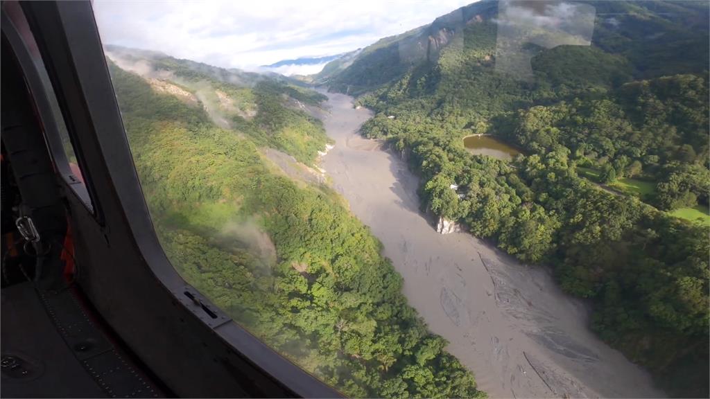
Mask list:
POLYGON ((710 5, 587 3, 591 45, 528 45, 530 79, 496 70, 497 1, 320 78, 376 112, 362 132, 408 159, 422 209, 552 266, 603 339, 670 395, 706 397, 709 231, 672 215, 709 205, 710 5), (461 139, 480 133, 526 155, 470 155, 461 139))

